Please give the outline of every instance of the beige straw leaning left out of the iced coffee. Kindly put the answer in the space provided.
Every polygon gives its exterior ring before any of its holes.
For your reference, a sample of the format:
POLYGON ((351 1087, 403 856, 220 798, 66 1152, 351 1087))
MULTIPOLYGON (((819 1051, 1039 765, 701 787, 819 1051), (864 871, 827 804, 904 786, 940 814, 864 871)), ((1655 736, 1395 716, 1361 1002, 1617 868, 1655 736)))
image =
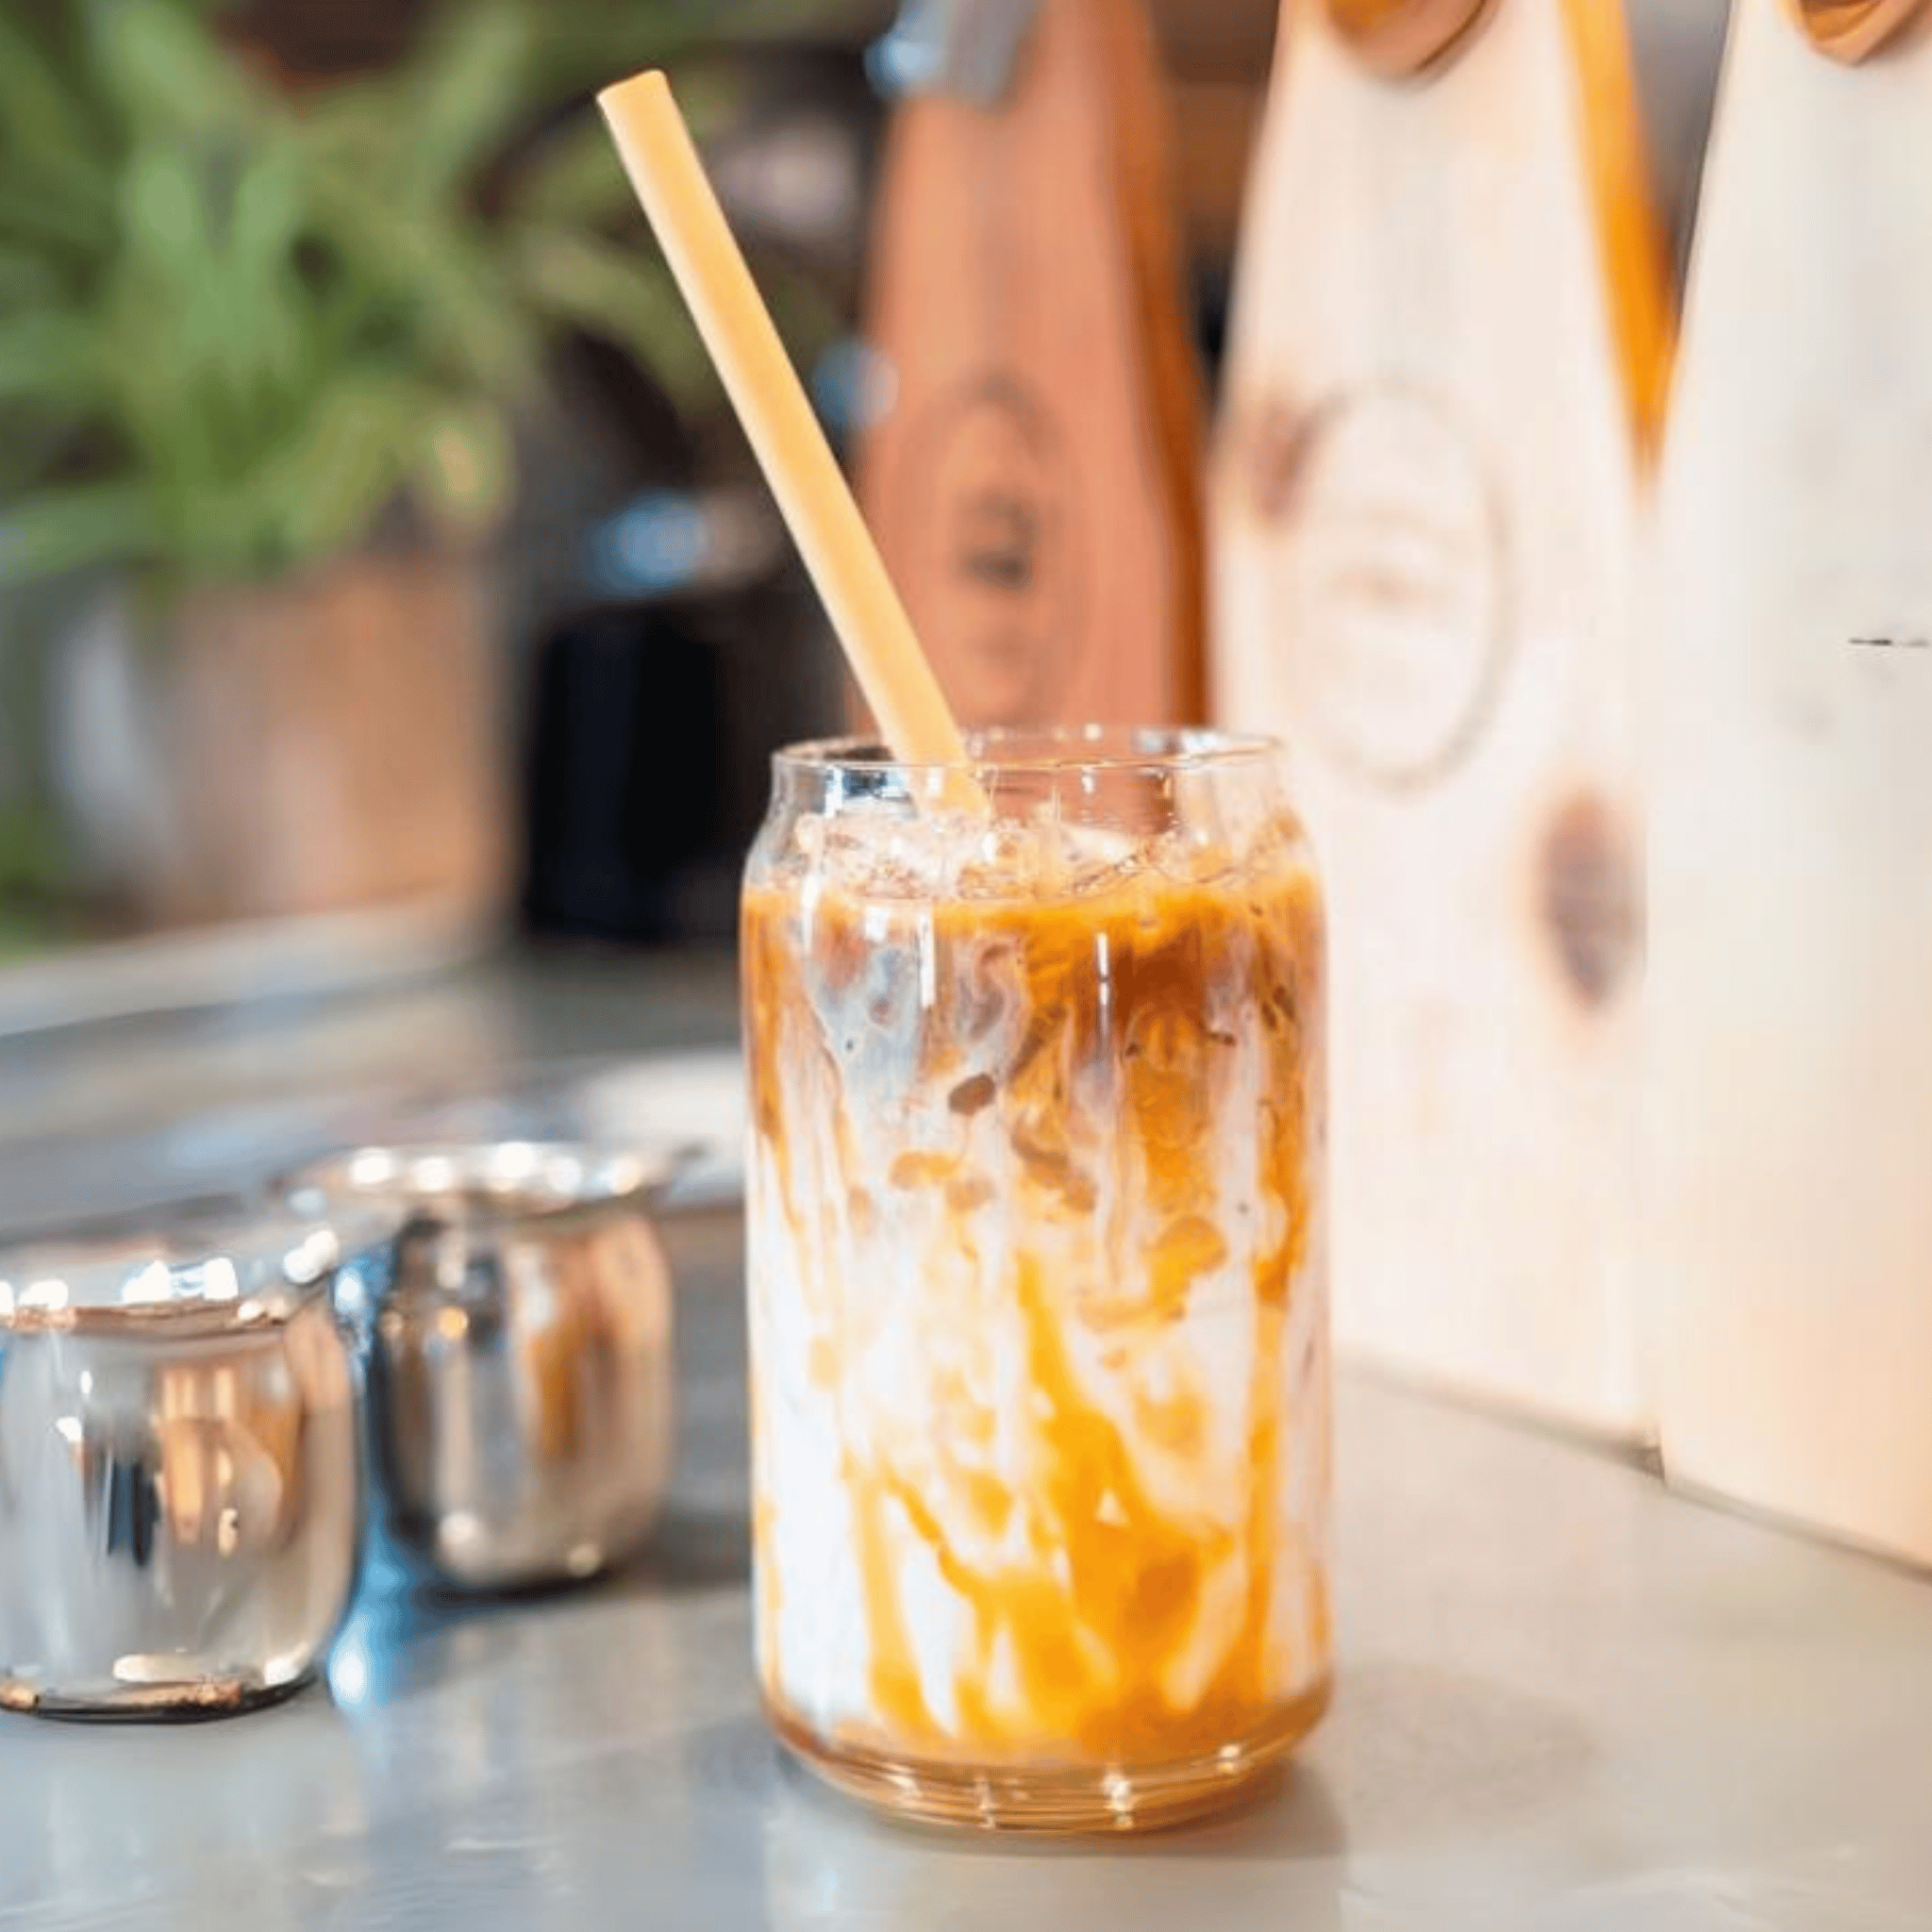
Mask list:
MULTIPOLYGON (((638 73, 607 87, 597 104, 893 757, 964 765, 958 724, 724 224, 668 81, 638 73)), ((978 786, 952 779, 949 796, 966 794, 978 798, 978 786)))

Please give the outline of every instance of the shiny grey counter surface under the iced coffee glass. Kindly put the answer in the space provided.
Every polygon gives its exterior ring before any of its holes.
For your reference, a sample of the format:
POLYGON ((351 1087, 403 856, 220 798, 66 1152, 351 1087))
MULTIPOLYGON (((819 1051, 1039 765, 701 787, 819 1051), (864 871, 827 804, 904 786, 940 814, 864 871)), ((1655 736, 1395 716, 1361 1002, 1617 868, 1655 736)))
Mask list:
MULTIPOLYGON (((636 1037, 614 995, 607 1022, 508 1049, 636 1037)), ((1072 1845, 864 1816, 757 1718, 736 1217, 667 1235, 651 1551, 491 1605, 377 1551, 327 1689, 172 1729, 0 1716, 0 1928, 1932 1926, 1932 1588, 1360 1378, 1339 1694, 1260 1803, 1072 1845)))

